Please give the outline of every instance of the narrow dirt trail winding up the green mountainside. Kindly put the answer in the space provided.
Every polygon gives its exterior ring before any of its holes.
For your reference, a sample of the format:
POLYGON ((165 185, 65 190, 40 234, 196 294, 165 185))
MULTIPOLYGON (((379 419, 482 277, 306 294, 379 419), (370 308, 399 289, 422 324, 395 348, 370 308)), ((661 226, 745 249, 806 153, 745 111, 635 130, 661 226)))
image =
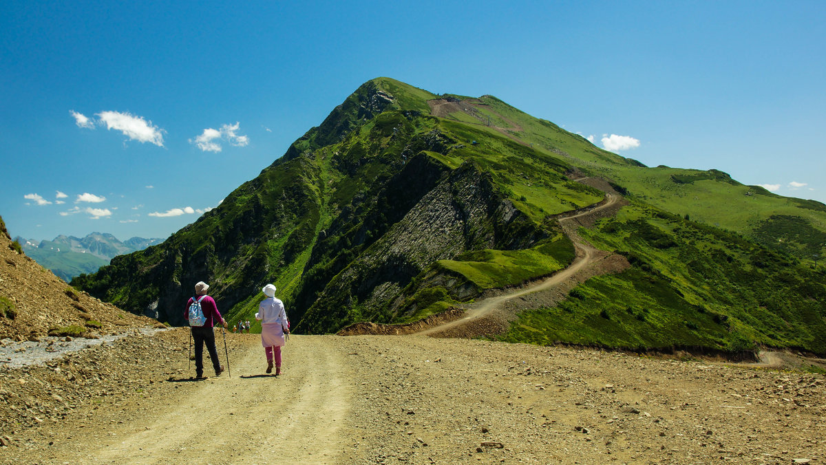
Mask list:
MULTIPOLYGON (((570 282, 577 277, 577 274, 582 273, 586 268, 593 266, 600 262, 610 253, 604 250, 596 249, 591 244, 577 234, 577 219, 583 216, 599 215, 602 211, 611 211, 619 206, 622 197, 614 193, 606 193, 605 200, 600 205, 592 208, 586 208, 584 211, 578 211, 570 216, 560 217, 559 223, 563 226, 565 234, 572 240, 574 248, 576 249, 576 258, 573 262, 558 273, 554 273, 549 278, 537 282, 529 287, 515 289, 507 292, 501 296, 488 297, 475 304, 467 306, 468 311, 465 315, 458 319, 447 321, 439 325, 432 326, 425 330, 416 332, 417 335, 449 335, 449 330, 455 330, 459 326, 472 325, 477 320, 482 320, 491 316, 495 311, 501 310, 502 304, 517 297, 523 297, 533 292, 547 291, 553 287, 558 287, 563 283, 570 282)), ((506 316, 509 317, 509 316, 506 316)))

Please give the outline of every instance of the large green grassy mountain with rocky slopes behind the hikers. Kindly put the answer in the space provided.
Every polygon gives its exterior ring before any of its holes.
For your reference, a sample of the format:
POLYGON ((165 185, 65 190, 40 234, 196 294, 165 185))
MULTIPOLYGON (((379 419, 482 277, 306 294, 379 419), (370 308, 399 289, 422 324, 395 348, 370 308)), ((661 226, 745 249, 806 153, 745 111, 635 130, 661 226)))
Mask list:
POLYGON ((163 244, 72 284, 183 324, 195 282, 230 321, 266 282, 293 327, 401 322, 572 262, 555 216, 629 202, 581 234, 629 270, 592 278, 562 305, 525 311, 506 340, 609 347, 754 344, 826 353, 826 206, 719 171, 648 168, 496 97, 364 83, 257 178, 163 244))

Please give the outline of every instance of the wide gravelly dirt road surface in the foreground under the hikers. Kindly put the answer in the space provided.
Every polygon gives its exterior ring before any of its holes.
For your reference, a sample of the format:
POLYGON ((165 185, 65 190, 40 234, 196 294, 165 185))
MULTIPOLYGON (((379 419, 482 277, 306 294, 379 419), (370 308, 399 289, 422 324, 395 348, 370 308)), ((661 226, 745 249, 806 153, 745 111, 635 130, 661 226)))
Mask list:
MULTIPOLYGON (((0 372, 7 401, 34 387, 28 409, 45 412, 0 431, 0 462, 826 460, 819 374, 417 335, 294 335, 273 377, 258 335, 227 335, 232 377, 192 381, 185 329, 129 339, 96 350, 107 364, 125 361, 121 372, 139 360, 139 374, 113 386, 115 373, 88 371, 93 396, 62 417, 51 413, 59 403, 44 408, 56 394, 39 387, 45 374, 0 372), (136 358, 150 347, 167 349, 136 358)), ((60 376, 86 363, 75 358, 60 376)))

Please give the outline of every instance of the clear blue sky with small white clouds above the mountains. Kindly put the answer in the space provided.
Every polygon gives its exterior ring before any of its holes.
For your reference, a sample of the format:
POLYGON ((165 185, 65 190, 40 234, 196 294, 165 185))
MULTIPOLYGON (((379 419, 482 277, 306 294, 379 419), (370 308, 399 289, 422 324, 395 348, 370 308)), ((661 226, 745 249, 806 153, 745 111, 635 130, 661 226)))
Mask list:
POLYGON ((120 3, 3 2, 12 236, 165 238, 379 76, 826 202, 826 2, 120 3))

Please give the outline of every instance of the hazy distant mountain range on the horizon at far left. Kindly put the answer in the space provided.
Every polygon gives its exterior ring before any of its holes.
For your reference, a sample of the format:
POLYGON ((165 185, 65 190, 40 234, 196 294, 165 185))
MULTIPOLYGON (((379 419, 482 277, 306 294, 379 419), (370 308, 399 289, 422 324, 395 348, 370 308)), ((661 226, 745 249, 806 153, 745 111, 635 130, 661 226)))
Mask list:
POLYGON ((121 242, 114 235, 99 232, 83 238, 59 235, 54 240, 37 242, 18 236, 15 240, 20 243, 26 255, 66 282, 82 273, 96 272, 97 268, 109 264, 117 255, 130 254, 164 241, 159 238, 133 237, 121 242))

